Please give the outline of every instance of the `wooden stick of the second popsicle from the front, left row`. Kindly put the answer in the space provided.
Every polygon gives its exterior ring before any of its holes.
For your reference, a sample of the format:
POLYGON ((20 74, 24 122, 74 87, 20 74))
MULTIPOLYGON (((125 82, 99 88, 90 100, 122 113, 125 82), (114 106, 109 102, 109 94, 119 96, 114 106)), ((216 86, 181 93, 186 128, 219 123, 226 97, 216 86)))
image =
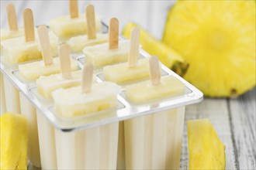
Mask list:
POLYGON ((61 75, 64 79, 71 78, 71 58, 69 55, 69 47, 66 43, 59 46, 59 57, 61 63, 61 75))

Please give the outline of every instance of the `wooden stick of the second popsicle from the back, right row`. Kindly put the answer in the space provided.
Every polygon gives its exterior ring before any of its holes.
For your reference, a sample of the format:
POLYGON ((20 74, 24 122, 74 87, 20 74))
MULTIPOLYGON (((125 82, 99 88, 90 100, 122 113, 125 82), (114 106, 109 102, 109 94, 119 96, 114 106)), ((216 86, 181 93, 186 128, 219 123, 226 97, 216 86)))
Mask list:
POLYGON ((89 4, 85 8, 87 22, 87 39, 96 38, 95 11, 94 6, 89 4))

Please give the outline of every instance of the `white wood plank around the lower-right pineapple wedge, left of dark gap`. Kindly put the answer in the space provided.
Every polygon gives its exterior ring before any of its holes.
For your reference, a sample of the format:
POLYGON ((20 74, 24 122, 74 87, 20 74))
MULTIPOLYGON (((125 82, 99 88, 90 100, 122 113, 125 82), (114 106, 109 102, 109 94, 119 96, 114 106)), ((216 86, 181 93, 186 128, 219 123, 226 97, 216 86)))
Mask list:
MULTIPOLYGON (((235 150, 230 129, 230 117, 225 99, 204 99, 200 104, 190 105, 185 111, 185 121, 209 118, 221 141, 226 146, 226 169, 236 169, 235 150)), ((182 138, 181 169, 189 169, 187 125, 182 138)))

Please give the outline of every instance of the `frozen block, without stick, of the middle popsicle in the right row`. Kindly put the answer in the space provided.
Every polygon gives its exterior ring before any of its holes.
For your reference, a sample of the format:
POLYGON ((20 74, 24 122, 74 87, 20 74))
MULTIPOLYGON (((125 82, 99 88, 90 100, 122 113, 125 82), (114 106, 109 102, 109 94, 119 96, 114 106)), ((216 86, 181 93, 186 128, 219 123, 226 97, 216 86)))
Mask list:
POLYGON ((123 63, 128 60, 130 41, 119 42, 118 49, 109 49, 109 43, 88 46, 83 49, 85 60, 93 66, 106 66, 113 63, 123 63))

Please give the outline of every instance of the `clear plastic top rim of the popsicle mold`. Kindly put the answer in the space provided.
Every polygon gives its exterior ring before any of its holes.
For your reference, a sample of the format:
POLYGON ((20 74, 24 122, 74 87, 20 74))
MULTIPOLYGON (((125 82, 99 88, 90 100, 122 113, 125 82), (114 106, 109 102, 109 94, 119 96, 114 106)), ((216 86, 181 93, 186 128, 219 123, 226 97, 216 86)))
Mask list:
MULTIPOLYGON (((120 39, 123 39, 120 37, 120 39)), ((79 69, 82 68, 85 57, 83 54, 71 54, 71 56, 78 62, 79 69)), ((140 49, 140 58, 149 57, 144 50, 140 49)), ((22 80, 19 76, 17 66, 7 66, 1 62, 1 72, 6 76, 14 86, 38 109, 55 128, 61 131, 76 131, 79 129, 87 129, 98 127, 103 124, 111 124, 113 122, 128 120, 133 117, 140 117, 147 114, 154 114, 164 110, 170 110, 176 107, 182 107, 188 104, 195 104, 202 100, 203 94, 201 91, 193 87, 190 83, 182 79, 173 71, 169 70, 166 66, 161 64, 161 76, 175 76, 178 80, 185 84, 185 93, 180 95, 172 95, 163 97, 159 100, 151 100, 144 104, 134 104, 126 98, 126 84, 121 84, 123 90, 119 93, 118 106, 116 109, 102 110, 95 113, 85 114, 82 116, 64 118, 60 117, 54 111, 54 103, 52 99, 44 99, 37 92, 35 81, 22 80)), ((104 76, 102 68, 95 68, 95 80, 102 82, 104 76)), ((140 80, 141 81, 141 80, 140 80)), ((171 87, 170 87, 171 88, 171 87)))

